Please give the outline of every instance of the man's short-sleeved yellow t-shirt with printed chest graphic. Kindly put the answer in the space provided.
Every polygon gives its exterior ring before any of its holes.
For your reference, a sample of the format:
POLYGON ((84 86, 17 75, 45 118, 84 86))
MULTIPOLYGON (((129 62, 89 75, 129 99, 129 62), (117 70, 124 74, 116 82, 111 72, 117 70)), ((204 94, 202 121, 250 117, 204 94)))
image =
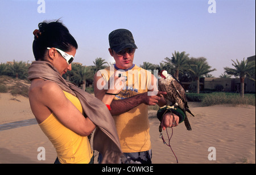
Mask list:
MULTIPOLYGON (((100 72, 102 78, 108 82, 116 70, 117 67, 110 66, 100 72)), ((115 95, 114 100, 126 99, 148 91, 151 72, 133 65, 129 70, 122 70, 122 74, 127 76, 126 86, 119 95, 115 95)), ((123 152, 142 152, 151 149, 147 105, 138 105, 113 118, 123 152)))

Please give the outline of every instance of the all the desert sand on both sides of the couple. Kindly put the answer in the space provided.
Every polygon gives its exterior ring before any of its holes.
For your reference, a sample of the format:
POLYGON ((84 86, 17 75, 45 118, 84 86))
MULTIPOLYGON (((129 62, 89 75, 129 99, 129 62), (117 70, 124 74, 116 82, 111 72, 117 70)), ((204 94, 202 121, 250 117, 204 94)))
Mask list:
MULTIPOLYGON (((255 164, 255 106, 202 107, 200 103, 189 103, 189 107, 195 114, 189 116, 192 131, 180 123, 173 128, 170 142, 179 164, 255 164)), ((152 163, 176 164, 170 147, 159 138, 156 111, 148 114, 152 163)), ((172 130, 168 129, 168 133, 171 135, 172 130)), ((166 131, 163 135, 168 142, 166 131)), ((55 159, 55 148, 35 123, 28 99, 0 93, 0 163, 52 164, 55 159), (27 124, 16 122, 24 120, 27 124), (40 147, 46 151, 45 160, 38 160, 38 155, 42 159, 40 147)))

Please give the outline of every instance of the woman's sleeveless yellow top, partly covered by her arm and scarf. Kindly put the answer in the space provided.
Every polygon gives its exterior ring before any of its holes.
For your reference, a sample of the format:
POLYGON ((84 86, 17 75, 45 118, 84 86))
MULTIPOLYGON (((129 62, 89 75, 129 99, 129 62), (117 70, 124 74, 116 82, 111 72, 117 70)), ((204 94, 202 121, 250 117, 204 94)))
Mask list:
MULTIPOLYGON (((68 92, 63 92, 82 113, 79 99, 68 92)), ((55 147, 61 164, 88 164, 90 162, 93 152, 87 136, 81 136, 65 127, 53 113, 39 126, 55 147)))

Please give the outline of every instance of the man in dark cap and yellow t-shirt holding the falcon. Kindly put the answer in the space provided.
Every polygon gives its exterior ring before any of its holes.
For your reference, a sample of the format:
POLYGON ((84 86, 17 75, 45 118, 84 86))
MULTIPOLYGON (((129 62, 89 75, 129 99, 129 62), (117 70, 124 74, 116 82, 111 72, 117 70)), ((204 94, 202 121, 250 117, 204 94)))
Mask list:
MULTIPOLYGON (((109 53, 114 57, 115 65, 95 74, 94 94, 102 100, 107 89, 112 88, 109 82, 115 71, 119 70, 122 76, 126 76, 125 88, 121 93, 115 94, 110 105, 123 152, 121 163, 151 163, 147 105, 165 105, 162 95, 166 92, 158 92, 155 76, 133 63, 137 46, 130 31, 117 29, 111 32, 109 45, 109 53)), ((179 117, 174 115, 174 119, 175 122, 171 113, 164 114, 161 123, 163 129, 177 126, 179 117)))

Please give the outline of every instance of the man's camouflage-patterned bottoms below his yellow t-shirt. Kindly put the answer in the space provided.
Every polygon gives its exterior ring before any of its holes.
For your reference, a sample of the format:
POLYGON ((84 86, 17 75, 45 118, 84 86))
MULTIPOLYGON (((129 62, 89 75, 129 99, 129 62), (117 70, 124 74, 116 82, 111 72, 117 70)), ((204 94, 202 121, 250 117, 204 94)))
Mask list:
MULTIPOLYGON (((121 164, 151 164, 152 151, 123 152, 120 157, 121 164)), ((98 163, 101 163, 102 155, 98 155, 98 163)))

